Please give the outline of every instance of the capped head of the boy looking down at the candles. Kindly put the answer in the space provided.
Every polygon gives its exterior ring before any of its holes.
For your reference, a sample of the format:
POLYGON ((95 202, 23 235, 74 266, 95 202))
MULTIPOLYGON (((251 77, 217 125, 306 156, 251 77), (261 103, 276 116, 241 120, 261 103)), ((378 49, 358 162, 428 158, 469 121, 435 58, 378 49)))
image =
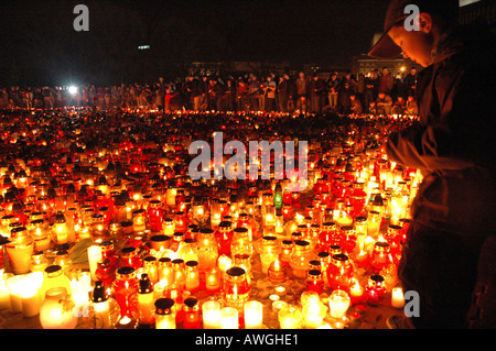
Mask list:
POLYGON ((457 22, 459 1, 417 0, 414 4, 410 2, 390 2, 385 20, 385 34, 369 55, 376 58, 392 58, 402 54, 405 58, 427 67, 432 63, 432 51, 441 35, 457 22))

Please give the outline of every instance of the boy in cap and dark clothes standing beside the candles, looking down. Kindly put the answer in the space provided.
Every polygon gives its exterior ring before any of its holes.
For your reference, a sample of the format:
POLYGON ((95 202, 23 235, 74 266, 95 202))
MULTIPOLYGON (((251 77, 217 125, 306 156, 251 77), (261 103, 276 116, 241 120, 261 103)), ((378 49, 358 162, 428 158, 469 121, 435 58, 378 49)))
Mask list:
POLYGON ((420 314, 406 321, 466 328, 481 248, 496 228, 495 37, 485 25, 461 26, 457 0, 416 0, 413 19, 410 3, 390 2, 385 34, 369 53, 402 53, 425 67, 417 80, 419 121, 385 144, 390 161, 423 175, 398 267, 403 289, 420 299, 420 314))

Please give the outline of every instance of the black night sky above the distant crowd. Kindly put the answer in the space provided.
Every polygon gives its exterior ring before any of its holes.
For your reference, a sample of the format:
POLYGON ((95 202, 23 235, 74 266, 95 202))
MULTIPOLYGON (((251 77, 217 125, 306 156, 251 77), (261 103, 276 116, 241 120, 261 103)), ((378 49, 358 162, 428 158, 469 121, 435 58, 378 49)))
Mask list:
POLYGON ((351 68, 381 31, 388 2, 2 1, 0 85, 129 83, 177 75, 196 61, 351 68), (89 9, 88 32, 73 29, 78 3, 89 9))

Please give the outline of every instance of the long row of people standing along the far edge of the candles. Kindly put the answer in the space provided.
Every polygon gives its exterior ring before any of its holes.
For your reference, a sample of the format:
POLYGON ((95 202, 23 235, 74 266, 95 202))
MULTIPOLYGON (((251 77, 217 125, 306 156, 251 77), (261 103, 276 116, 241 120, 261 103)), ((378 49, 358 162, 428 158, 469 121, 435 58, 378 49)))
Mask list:
POLYGON ((235 78, 190 75, 184 79, 109 87, 10 87, 0 89, 0 108, 123 107, 174 111, 280 111, 339 114, 417 116, 417 70, 393 77, 388 68, 358 77, 347 72, 254 73, 235 78))

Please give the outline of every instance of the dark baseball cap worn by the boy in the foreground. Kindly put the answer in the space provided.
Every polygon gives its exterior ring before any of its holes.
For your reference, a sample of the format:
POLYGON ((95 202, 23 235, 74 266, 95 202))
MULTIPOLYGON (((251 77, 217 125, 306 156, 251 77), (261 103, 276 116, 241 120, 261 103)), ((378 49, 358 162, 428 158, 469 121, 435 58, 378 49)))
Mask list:
POLYGON ((392 26, 401 23, 411 15, 410 11, 405 13, 409 6, 417 6, 420 12, 435 12, 443 15, 453 15, 457 13, 457 0, 392 0, 386 12, 384 20, 384 33, 368 53, 368 56, 375 58, 395 58, 401 55, 401 48, 391 40, 388 32, 392 26))

